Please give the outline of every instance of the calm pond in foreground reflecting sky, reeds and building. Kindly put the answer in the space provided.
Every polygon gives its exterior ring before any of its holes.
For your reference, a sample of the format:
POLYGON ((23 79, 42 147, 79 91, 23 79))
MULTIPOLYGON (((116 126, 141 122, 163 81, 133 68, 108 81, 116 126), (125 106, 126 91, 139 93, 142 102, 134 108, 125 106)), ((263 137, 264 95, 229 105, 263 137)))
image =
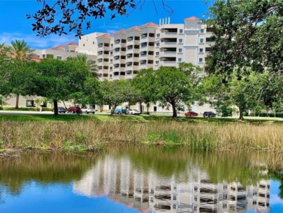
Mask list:
POLYGON ((140 145, 24 151, 0 158, 0 212, 283 212, 282 158, 140 145))

